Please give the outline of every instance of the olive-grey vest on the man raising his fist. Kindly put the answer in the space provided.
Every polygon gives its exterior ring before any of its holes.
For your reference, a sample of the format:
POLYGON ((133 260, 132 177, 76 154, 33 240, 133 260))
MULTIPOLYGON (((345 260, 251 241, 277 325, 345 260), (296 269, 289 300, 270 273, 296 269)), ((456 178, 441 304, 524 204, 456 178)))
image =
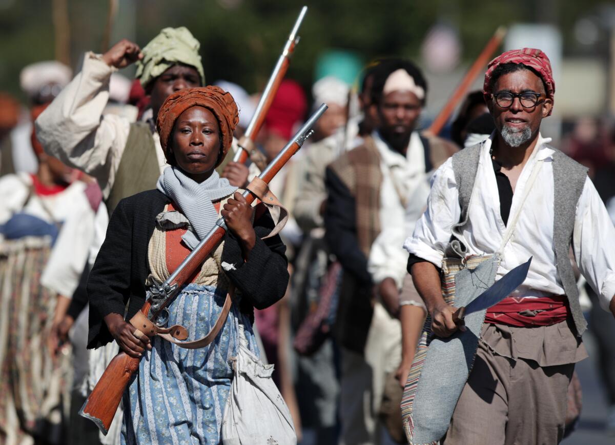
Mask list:
POLYGON ((151 129, 145 122, 130 124, 126 147, 119 161, 113 187, 106 199, 109 215, 121 199, 156 188, 160 167, 151 129))

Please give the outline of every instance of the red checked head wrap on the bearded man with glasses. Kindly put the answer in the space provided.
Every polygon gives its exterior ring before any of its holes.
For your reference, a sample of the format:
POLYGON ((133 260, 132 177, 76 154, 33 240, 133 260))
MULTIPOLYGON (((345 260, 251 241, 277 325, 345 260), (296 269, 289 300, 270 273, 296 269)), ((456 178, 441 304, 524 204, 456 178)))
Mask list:
POLYGON ((493 71, 498 68, 498 66, 504 65, 505 63, 523 63, 523 65, 536 70, 547 87, 547 97, 554 100, 555 81, 553 80, 551 62, 544 52, 534 48, 513 49, 499 55, 489 62, 489 65, 487 65, 487 72, 485 73, 485 84, 483 86, 485 100, 488 100, 488 96, 491 94, 490 83, 493 71))

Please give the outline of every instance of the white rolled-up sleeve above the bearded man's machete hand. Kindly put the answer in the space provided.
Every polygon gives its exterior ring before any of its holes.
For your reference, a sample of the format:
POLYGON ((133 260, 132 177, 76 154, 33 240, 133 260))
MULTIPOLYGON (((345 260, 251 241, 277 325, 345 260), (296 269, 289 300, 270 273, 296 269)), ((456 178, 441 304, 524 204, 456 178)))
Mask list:
POLYGON ((434 173, 427 209, 403 247, 410 254, 433 263, 435 267, 442 267, 451 228, 459 222, 460 217, 459 192, 453 173, 453 161, 449 158, 434 173))

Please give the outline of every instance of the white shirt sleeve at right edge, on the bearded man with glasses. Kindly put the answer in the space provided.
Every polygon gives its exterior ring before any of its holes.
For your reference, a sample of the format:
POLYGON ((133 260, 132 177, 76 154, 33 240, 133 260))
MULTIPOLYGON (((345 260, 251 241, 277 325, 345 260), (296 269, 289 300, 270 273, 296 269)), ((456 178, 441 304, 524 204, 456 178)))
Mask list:
POLYGON ((615 295, 615 227, 589 177, 577 204, 573 249, 579 270, 608 309, 615 295))

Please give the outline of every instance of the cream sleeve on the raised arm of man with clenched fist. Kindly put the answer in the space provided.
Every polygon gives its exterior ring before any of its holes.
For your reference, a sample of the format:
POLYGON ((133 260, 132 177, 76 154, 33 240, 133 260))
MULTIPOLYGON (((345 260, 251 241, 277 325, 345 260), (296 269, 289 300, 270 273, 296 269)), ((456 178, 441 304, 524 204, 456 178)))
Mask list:
POLYGON ((36 119, 36 135, 51 156, 96 178, 109 196, 130 131, 130 121, 103 114, 115 68, 85 55, 81 73, 36 119))

